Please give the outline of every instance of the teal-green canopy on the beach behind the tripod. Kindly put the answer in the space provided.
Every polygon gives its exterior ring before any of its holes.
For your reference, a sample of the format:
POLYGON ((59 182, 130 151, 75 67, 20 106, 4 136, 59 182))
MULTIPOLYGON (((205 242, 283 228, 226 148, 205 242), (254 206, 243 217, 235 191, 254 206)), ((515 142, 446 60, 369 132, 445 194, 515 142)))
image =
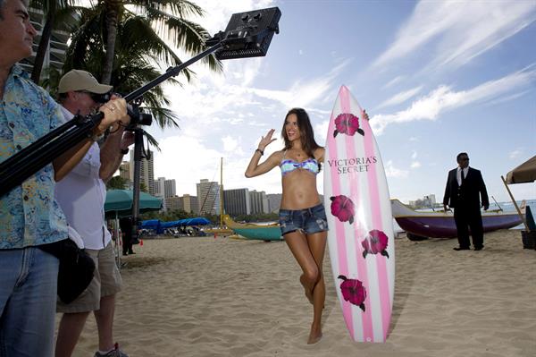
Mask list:
MULTIPOLYGON (((161 208, 162 200, 151 196, 146 192, 139 192, 139 213, 157 211, 161 208)), ((132 191, 106 191, 105 215, 106 218, 121 218, 132 216, 132 191)))

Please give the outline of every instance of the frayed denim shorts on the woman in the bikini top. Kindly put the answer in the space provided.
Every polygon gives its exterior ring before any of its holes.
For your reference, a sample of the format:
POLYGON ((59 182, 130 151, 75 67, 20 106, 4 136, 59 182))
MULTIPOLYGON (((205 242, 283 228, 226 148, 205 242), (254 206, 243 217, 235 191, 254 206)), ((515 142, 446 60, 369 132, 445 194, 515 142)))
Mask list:
POLYGON ((328 230, 326 210, 322 203, 305 209, 280 209, 279 223, 281 234, 285 235, 297 230, 306 234, 325 232, 328 230))

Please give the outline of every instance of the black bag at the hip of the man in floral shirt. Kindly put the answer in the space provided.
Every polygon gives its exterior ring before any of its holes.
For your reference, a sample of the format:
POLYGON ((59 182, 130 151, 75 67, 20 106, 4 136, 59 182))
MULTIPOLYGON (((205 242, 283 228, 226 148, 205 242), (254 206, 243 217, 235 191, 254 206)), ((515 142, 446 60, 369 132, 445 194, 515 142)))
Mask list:
POLYGON ((39 245, 38 248, 60 260, 58 296, 63 303, 73 302, 91 283, 95 262, 71 239, 39 245))

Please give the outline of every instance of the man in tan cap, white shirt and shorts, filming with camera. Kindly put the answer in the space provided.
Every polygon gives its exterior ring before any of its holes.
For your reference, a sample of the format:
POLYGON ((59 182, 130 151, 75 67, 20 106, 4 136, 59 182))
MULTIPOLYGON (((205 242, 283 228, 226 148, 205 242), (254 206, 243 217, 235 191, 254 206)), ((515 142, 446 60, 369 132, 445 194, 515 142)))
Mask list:
MULTIPOLYGON (((89 115, 110 97, 112 86, 98 83, 89 72, 72 70, 59 83, 59 101, 65 121, 75 114, 89 115)), ((67 222, 82 237, 84 248, 95 261, 96 271, 88 289, 74 302, 57 303, 63 312, 56 342, 56 357, 71 356, 89 312, 95 314, 98 349, 95 356, 127 356, 113 344, 115 294, 121 290, 121 275, 115 265, 111 234, 105 225, 105 182, 117 171, 123 155, 134 141, 132 132, 116 125, 102 147, 93 143, 85 157, 56 184, 55 198, 67 222)))

